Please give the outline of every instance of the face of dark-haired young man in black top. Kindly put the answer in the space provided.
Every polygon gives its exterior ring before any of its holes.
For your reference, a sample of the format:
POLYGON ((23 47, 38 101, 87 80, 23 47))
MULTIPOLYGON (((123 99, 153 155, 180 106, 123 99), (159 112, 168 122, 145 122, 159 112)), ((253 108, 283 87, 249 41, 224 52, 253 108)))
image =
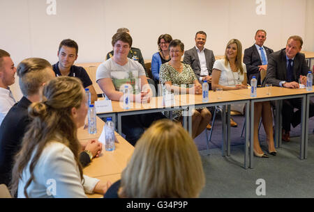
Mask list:
POLYGON ((77 59, 76 49, 73 47, 62 46, 58 51, 59 66, 69 69, 77 59))

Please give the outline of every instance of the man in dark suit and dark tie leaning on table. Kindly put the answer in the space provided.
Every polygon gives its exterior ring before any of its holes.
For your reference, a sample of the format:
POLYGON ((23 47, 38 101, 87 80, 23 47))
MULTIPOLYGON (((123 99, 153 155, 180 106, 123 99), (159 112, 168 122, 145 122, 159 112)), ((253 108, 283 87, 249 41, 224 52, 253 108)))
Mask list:
MULTIPOLYGON (((303 40, 294 35, 287 40, 285 49, 269 56, 267 75, 263 83, 284 88, 299 88, 299 83, 306 85, 308 66, 304 54, 300 53, 303 40)), ((314 115, 314 104, 310 101, 310 117, 314 115)), ((283 140, 290 141, 290 124, 296 127, 301 122, 301 99, 283 100, 283 140), (294 112, 294 108, 297 108, 294 112)))

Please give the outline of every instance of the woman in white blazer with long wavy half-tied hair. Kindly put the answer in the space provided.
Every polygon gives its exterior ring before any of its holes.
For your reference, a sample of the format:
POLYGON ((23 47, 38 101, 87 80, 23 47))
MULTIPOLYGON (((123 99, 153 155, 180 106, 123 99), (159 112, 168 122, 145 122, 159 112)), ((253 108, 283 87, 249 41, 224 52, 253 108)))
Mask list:
POLYGON ((33 121, 16 156, 13 195, 16 191, 17 197, 86 197, 84 191, 105 193, 107 185, 83 176, 79 162, 77 128, 84 125, 85 102, 79 79, 61 76, 45 85, 43 101, 29 106, 33 121))

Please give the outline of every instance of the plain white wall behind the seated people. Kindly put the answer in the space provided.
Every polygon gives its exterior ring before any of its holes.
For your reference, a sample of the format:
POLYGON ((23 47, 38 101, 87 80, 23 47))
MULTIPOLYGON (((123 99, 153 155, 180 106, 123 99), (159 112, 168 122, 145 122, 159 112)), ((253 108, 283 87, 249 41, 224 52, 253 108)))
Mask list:
MULTIPOLYGON (((258 28, 267 31, 265 44, 274 51, 294 34, 304 38, 304 50, 314 51, 313 0, 265 0, 266 15, 255 13, 258 1, 56 0, 57 15, 47 15, 45 0, 0 0, 0 49, 15 64, 28 57, 56 63, 59 42, 71 38, 79 44, 77 63, 100 62, 112 50, 117 28, 126 27, 145 59, 158 50, 160 34, 169 33, 190 49, 200 30, 207 32, 206 46, 216 55, 224 54, 232 38, 250 47, 258 28)), ((11 88, 20 99, 17 81, 11 88)))

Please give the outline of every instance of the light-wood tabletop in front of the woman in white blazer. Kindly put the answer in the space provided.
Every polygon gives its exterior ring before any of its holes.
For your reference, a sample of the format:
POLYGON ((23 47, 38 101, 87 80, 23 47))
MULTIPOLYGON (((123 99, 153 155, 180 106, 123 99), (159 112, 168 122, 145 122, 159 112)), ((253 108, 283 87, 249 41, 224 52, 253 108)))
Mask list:
MULTIPOLYGON (((100 137, 103 131, 103 126, 105 122, 97 117, 97 133, 89 134, 87 129, 81 127, 77 130, 77 138, 82 144, 91 139, 96 139, 100 137)), ((100 181, 107 182, 117 181, 121 178, 121 172, 126 168, 128 159, 132 156, 134 147, 130 145, 122 136, 115 132, 115 136, 119 143, 116 142, 115 149, 112 152, 106 152, 105 146, 103 145, 103 151, 98 158, 93 158, 93 161, 83 169, 83 173, 89 177, 95 177, 100 179, 100 181)), ((100 142, 104 142, 100 140, 100 142)), ((103 195, 93 194, 87 195, 88 197, 103 197, 103 195)))

